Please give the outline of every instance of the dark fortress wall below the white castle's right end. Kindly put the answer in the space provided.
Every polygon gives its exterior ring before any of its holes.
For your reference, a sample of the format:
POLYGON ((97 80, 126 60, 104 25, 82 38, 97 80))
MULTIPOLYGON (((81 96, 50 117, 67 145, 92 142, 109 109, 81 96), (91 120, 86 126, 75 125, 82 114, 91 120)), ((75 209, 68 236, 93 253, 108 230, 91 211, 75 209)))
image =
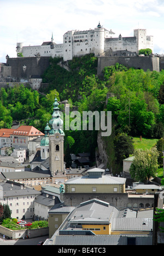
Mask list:
POLYGON ((159 71, 160 64, 159 64, 159 57, 156 56, 136 56, 136 57, 99 57, 98 58, 98 67, 97 67, 97 74, 101 74, 104 67, 113 66, 115 63, 120 63, 121 65, 127 67, 134 67, 137 69, 143 69, 147 71, 159 71))

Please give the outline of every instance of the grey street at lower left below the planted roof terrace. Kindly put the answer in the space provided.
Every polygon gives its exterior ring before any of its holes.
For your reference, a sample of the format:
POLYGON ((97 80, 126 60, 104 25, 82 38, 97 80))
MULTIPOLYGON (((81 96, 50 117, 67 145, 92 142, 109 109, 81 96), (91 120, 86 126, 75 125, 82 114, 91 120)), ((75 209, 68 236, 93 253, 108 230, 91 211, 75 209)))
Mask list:
POLYGON ((46 239, 48 239, 48 236, 39 236, 34 238, 28 238, 28 239, 19 239, 19 240, 3 240, 2 237, 0 237, 0 246, 5 245, 37 245, 38 242, 45 242, 46 239))

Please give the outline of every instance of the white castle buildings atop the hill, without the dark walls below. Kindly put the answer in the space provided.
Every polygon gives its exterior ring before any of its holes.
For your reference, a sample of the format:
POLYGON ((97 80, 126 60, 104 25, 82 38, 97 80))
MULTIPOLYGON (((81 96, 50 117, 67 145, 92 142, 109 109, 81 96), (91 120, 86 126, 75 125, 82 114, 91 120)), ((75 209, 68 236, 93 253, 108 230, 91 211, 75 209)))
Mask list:
POLYGON ((114 37, 112 30, 107 30, 101 24, 95 29, 79 31, 67 31, 63 35, 63 43, 54 43, 53 35, 50 42, 44 42, 37 46, 23 46, 23 43, 17 43, 17 54, 22 53, 24 57, 45 56, 45 57, 63 57, 63 61, 72 60, 74 56, 83 56, 93 53, 100 56, 107 51, 130 51, 138 54, 140 49, 153 47, 153 36, 147 36, 147 30, 134 30, 133 37, 114 37))

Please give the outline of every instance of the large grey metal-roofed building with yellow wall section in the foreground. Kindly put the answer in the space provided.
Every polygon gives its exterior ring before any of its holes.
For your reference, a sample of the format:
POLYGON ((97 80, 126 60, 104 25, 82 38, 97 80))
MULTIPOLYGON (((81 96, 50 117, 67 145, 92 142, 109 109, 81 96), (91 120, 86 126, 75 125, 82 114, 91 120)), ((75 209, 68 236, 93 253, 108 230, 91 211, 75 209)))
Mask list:
MULTIPOLYGON (((65 208, 65 207, 63 207, 65 208)), ((68 210, 68 207, 66 207, 68 210)), ((70 208, 70 207, 69 207, 70 208)), ((70 210, 70 209, 69 209, 70 210)), ((60 208, 54 211, 57 218, 60 208)), ((145 235, 148 236, 153 229, 153 210, 137 212, 128 208, 119 210, 98 199, 91 199, 80 203, 74 210, 65 217, 65 221, 56 230, 53 237, 68 236, 115 236, 115 235, 145 235)), ((51 219, 51 220, 52 220, 51 219)), ((54 222, 49 222, 52 226, 54 222)), ((60 239, 60 238, 59 238, 60 239)), ((78 243, 80 245, 80 243, 78 243)))

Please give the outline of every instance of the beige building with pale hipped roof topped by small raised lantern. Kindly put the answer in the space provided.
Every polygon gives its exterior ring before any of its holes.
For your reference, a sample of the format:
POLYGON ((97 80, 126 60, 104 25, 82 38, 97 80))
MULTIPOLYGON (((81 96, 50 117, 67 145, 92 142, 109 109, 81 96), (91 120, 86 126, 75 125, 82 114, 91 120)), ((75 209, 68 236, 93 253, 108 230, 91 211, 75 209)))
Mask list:
POLYGON ((69 179, 65 183, 66 193, 126 193, 126 178, 103 175, 103 172, 93 168, 86 176, 69 179))

